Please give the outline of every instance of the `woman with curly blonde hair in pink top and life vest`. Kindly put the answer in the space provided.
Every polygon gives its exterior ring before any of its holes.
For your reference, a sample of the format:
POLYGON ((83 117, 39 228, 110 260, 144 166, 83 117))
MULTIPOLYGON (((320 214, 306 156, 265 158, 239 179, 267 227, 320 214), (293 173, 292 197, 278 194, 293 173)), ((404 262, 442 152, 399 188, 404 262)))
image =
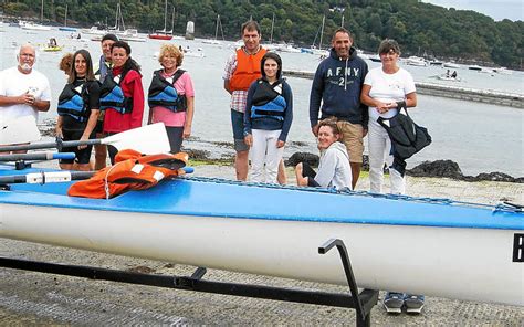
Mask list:
POLYGON ((164 123, 171 154, 180 151, 182 140, 191 136, 195 89, 189 74, 180 70, 184 54, 175 44, 160 48, 158 61, 164 67, 153 73, 148 92, 148 124, 164 123))

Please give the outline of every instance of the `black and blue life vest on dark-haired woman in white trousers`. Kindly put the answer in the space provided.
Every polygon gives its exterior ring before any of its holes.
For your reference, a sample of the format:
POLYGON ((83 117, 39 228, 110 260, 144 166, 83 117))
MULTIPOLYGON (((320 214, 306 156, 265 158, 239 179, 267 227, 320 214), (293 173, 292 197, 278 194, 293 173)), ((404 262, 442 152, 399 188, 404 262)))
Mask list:
POLYGON ((284 112, 287 107, 285 98, 282 96, 282 82, 271 85, 260 78, 259 85, 253 94, 251 106, 251 118, 274 118, 284 120, 284 112))

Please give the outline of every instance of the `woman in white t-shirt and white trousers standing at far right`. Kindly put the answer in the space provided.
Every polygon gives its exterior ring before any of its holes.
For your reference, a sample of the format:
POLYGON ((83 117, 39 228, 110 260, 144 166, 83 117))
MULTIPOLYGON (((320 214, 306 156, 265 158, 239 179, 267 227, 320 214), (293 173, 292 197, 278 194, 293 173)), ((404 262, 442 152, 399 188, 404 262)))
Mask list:
MULTIPOLYGON (((368 141, 369 141, 369 181, 371 192, 382 191, 384 164, 389 167, 390 192, 404 194, 406 181, 404 175, 392 165, 391 140, 386 129, 378 123, 379 117, 391 118, 397 115, 399 106, 417 106, 417 93, 411 74, 398 66, 400 48, 397 41, 384 40, 378 54, 381 67, 370 70, 364 80, 360 101, 369 106, 368 141)), ((411 314, 419 314, 423 307, 423 295, 406 295, 388 292, 384 306, 388 313, 399 314, 402 308, 411 314)))

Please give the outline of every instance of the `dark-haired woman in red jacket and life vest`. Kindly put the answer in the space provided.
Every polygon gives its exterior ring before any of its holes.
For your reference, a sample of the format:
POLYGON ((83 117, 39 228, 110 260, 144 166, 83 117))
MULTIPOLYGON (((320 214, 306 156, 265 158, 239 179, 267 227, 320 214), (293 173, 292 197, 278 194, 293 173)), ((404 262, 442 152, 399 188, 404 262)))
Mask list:
MULTIPOLYGON (((124 41, 111 48, 113 70, 107 72, 101 87, 101 109, 105 110, 104 133, 114 135, 142 126, 144 88, 140 66, 130 57, 130 46, 124 41)), ((107 146, 111 164, 117 149, 107 146)))

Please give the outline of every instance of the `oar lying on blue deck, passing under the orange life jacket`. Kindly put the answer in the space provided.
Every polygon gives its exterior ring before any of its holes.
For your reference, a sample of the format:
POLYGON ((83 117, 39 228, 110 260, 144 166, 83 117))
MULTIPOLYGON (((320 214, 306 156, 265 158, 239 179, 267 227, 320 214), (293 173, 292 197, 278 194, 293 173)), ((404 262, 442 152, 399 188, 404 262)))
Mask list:
MULTIPOLYGON (((186 173, 192 173, 192 167, 181 168, 186 173)), ((25 175, 0 176, 1 184, 9 183, 49 183, 49 182, 66 182, 72 180, 82 180, 91 178, 96 171, 40 171, 25 175)))

